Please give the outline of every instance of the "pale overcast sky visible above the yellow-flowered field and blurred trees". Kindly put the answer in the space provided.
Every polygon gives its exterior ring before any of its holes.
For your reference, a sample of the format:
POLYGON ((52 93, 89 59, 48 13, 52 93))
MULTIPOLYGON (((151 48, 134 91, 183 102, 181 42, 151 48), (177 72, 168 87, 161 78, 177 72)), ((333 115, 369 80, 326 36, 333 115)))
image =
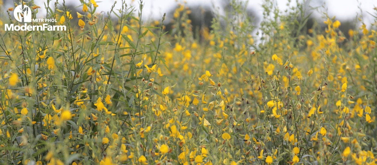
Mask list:
MULTIPOLYGON (((35 3, 38 6, 41 6, 43 8, 43 3, 46 0, 35 0, 35 3)), ((63 2, 63 0, 58 0, 59 2, 63 2)), ((86 0, 88 1, 88 0, 86 0)), ((115 0, 96 0, 98 1, 98 9, 97 11, 109 11, 110 7, 113 5, 115 0)), ((211 7, 212 4, 218 4, 221 0, 186 0, 187 5, 202 5, 202 6, 208 6, 211 7)), ((288 0, 277 0, 278 1, 278 6, 280 9, 284 10, 287 9, 287 2, 288 0)), ((295 0, 292 0, 292 5, 295 5, 295 0)), ((302 1, 302 0, 300 0, 302 1)), ((316 6, 321 6, 323 3, 316 3, 316 1, 324 1, 325 6, 328 8, 328 13, 329 15, 336 16, 337 19, 339 20, 346 20, 346 19, 354 19, 356 16, 356 13, 360 13, 360 9, 358 8, 359 3, 361 3, 361 9, 363 10, 363 17, 365 20, 365 23, 370 24, 371 22, 374 22, 374 19, 369 13, 374 13, 376 14, 376 11, 373 9, 375 6, 377 6, 377 0, 311 0, 313 7, 316 6), (315 5, 315 6, 314 6, 315 5), (369 13, 368 13, 369 12, 369 13)), ((79 0, 66 0, 67 3, 73 3, 74 5, 80 5, 79 0)), ((183 2, 182 0, 143 0, 144 2, 144 9, 143 9, 143 14, 144 17, 143 19, 146 18, 153 18, 153 19, 161 19, 162 15, 164 12, 169 12, 171 9, 175 8, 178 4, 178 2, 183 2)), ((262 2, 263 0, 250 0, 248 2, 248 7, 250 9, 255 10, 257 15, 261 16, 262 15, 262 2)), ((139 1, 135 0, 126 0, 127 5, 138 5, 139 1)), ((116 9, 119 9, 121 5, 121 0, 118 0, 118 3, 116 4, 116 9)), ((40 12, 44 12, 43 9, 40 10, 40 12)), ((316 14, 317 16, 320 17, 319 14, 316 14)))

